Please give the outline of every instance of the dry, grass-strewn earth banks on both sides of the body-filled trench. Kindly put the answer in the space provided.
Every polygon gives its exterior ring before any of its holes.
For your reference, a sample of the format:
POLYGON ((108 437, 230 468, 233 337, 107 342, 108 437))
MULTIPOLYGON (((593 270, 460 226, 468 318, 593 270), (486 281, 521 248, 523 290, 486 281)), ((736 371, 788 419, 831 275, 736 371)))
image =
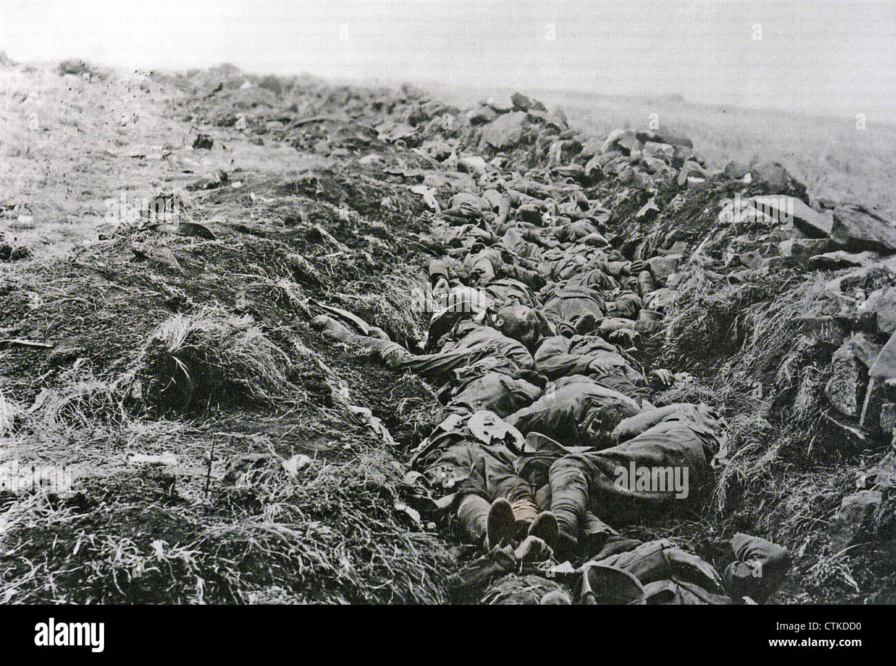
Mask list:
MULTIPOLYGON (((408 295, 436 216, 411 187, 446 168, 419 149, 444 115, 444 138, 476 152, 463 112, 227 67, 0 76, 0 465, 73 473, 63 492, 0 491, 0 602, 449 601, 471 550, 402 483, 443 407, 309 324, 330 304, 422 337, 408 295)), ((657 367, 687 373, 667 399, 706 401, 732 428, 702 513, 629 533, 716 561, 749 530, 795 556, 773 601, 891 602, 892 432, 836 413, 824 388, 860 325, 871 361, 892 333, 848 312, 896 286, 892 252, 763 261, 784 236, 760 218, 730 233, 719 213, 780 192, 719 174, 588 186, 620 237, 709 255, 644 339, 657 367), (844 276, 845 304, 830 287, 844 276), (878 494, 844 517, 857 491, 878 494)))

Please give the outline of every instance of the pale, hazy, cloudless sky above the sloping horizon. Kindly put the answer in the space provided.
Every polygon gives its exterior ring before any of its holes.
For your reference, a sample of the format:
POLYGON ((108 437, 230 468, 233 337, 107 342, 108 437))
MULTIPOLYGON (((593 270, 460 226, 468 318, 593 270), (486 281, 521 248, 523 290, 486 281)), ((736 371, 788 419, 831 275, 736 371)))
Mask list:
POLYGON ((889 1, 2 0, 0 50, 896 115, 889 1))

